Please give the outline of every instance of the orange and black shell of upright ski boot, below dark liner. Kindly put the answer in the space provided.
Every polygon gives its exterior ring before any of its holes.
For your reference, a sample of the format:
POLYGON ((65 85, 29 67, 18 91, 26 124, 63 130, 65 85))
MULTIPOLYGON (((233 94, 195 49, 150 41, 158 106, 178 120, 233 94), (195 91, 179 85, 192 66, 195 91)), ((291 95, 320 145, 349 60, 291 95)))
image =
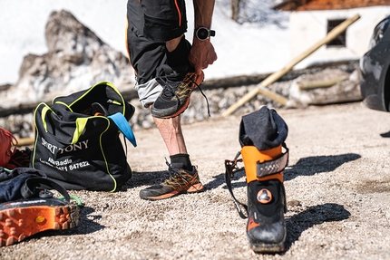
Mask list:
POLYGON ((287 235, 284 219, 287 207, 283 172, 278 171, 287 165, 288 154, 282 155, 281 146, 262 151, 245 146, 241 154, 248 183, 250 248, 257 253, 282 252, 287 235))

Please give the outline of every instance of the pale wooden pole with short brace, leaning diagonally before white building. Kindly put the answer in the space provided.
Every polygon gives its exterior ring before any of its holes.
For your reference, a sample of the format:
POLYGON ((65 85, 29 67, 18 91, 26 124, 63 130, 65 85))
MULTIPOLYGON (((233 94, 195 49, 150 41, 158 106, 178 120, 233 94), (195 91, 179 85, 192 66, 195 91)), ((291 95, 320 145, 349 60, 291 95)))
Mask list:
POLYGON ((244 95, 241 99, 239 99, 239 101, 237 101, 236 103, 232 104, 226 111, 224 111, 222 113, 222 116, 223 117, 229 116, 231 113, 233 113, 234 111, 239 109, 240 106, 242 106, 247 101, 250 101, 253 97, 255 97, 258 94, 258 92, 261 92, 263 94, 265 92, 267 92, 267 94, 270 94, 270 92, 271 92, 271 96, 273 97, 272 99, 274 101, 278 101, 280 104, 286 105, 288 99, 286 99, 283 96, 280 96, 277 93, 274 93, 272 91, 268 91, 266 87, 268 87, 269 84, 278 81, 279 78, 281 78, 284 74, 289 72, 295 65, 297 65, 297 63, 300 63, 302 60, 304 60, 311 53, 316 52, 319 47, 321 47, 324 44, 329 43, 330 41, 335 39, 338 34, 341 34, 344 31, 346 31, 346 28, 349 25, 354 24, 359 18, 360 18, 360 15, 356 14, 355 16, 347 19, 343 23, 338 24, 332 31, 330 31, 327 34, 327 36, 324 39, 322 39, 321 41, 315 43, 312 47, 307 49, 306 52, 301 53, 296 58, 291 60, 283 69, 281 69, 278 72, 272 73, 264 81, 258 83, 257 88, 253 89, 252 91, 249 91, 246 95, 244 95))

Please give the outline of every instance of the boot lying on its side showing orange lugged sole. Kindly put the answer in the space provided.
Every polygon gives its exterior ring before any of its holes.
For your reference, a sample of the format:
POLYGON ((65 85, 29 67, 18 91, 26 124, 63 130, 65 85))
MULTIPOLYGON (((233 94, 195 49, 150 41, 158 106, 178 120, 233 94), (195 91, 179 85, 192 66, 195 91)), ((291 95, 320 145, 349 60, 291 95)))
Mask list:
POLYGON ((80 207, 49 198, 29 198, 0 204, 0 247, 21 242, 45 230, 61 230, 77 226, 80 207))

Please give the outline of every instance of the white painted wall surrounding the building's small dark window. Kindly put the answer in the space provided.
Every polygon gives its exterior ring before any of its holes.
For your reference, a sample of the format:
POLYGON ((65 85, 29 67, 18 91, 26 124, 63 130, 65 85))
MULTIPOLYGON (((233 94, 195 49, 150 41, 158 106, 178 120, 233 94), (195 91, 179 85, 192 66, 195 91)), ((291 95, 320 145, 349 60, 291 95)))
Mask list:
POLYGON ((289 24, 291 59, 304 53, 327 35, 327 20, 348 19, 356 14, 360 15, 360 19, 346 29, 346 47, 322 46, 296 68, 313 63, 359 59, 368 50, 375 25, 390 14, 390 6, 292 12, 289 24))

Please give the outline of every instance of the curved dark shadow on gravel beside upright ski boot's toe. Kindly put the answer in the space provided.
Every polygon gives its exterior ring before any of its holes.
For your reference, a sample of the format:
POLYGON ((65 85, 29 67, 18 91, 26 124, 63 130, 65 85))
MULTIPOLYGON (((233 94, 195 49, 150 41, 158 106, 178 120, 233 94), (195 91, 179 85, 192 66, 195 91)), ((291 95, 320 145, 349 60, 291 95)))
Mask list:
POLYGON ((347 219, 351 213, 342 205, 326 203, 323 205, 307 207, 303 212, 286 218, 287 238, 286 251, 296 242, 302 232, 312 226, 321 225, 325 222, 335 222, 347 219))

